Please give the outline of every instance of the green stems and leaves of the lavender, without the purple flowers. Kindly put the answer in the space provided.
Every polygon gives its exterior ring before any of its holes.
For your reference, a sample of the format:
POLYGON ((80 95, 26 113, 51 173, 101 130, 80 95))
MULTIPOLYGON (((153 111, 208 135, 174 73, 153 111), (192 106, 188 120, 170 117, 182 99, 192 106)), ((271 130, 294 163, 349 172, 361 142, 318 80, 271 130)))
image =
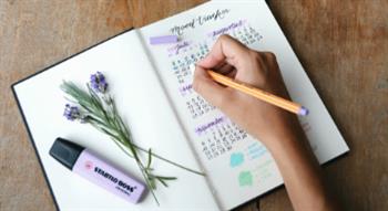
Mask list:
MULTIPOLYGON (((106 95, 100 95, 100 93, 94 92, 90 87, 89 84, 88 92, 83 91, 79 86, 76 86, 72 82, 63 82, 61 85, 61 88, 70 96, 72 96, 73 99, 85 110, 90 114, 90 120, 89 123, 96 128, 98 130, 106 134, 112 138, 115 145, 119 146, 119 148, 133 158, 136 161, 136 165, 145 179, 146 186, 149 190, 151 191, 153 198, 155 199, 157 205, 160 205, 157 198, 155 196, 154 189, 156 188, 155 181, 156 179, 162 182, 164 186, 167 186, 167 183, 164 180, 172 180, 176 179, 175 177, 161 177, 153 175, 152 168, 150 168, 151 165, 151 157, 155 157, 157 159, 161 159, 165 162, 169 162, 175 167, 182 168, 184 170, 187 170, 190 172, 205 176, 205 173, 190 169, 187 167, 184 167, 177 162, 171 161, 166 158, 163 158, 162 156, 159 156, 150 150, 146 150, 142 147, 136 146, 132 141, 131 133, 127 128, 127 126, 123 123, 123 119, 118 113, 118 109, 115 107, 115 104, 111 96, 106 95), (146 152, 149 154, 149 165, 147 168, 144 167, 142 160, 140 159, 137 152, 146 152), (132 155, 131 155, 132 154, 132 155)), ((105 94, 105 93, 103 93, 105 94)))

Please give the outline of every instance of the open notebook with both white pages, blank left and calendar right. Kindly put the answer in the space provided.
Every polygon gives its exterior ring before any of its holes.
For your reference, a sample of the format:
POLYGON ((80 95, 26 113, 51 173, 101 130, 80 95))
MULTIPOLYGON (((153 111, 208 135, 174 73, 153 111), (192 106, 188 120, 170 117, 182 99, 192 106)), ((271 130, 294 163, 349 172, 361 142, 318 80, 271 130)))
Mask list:
POLYGON ((223 33, 249 48, 272 51, 292 98, 309 108, 300 118, 319 162, 348 147, 264 0, 212 1, 141 29, 126 31, 13 85, 31 140, 61 210, 228 210, 283 183, 266 148, 208 105, 191 86, 188 65, 203 57, 223 33), (176 44, 150 45, 154 35, 177 34, 176 44), (201 177, 155 159, 161 175, 157 207, 147 194, 139 204, 72 173, 49 149, 57 137, 79 143, 142 179, 135 162, 105 135, 62 117, 63 80, 83 85, 104 73, 134 141, 194 169, 201 177))

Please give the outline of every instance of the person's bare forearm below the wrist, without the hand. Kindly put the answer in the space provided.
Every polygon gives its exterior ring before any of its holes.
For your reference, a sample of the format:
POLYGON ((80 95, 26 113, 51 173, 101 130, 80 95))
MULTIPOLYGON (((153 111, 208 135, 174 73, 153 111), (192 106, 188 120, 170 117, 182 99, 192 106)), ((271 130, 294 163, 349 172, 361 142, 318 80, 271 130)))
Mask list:
POLYGON ((320 167, 298 123, 266 141, 283 176, 295 210, 335 210, 324 186, 320 167))

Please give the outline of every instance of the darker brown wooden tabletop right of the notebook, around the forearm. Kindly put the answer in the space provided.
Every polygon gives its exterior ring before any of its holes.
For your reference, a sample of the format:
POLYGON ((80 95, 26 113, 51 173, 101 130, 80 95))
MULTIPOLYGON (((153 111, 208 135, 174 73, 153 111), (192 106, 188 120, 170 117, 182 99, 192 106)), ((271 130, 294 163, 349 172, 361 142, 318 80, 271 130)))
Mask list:
MULTIPOLYGON (((386 0, 270 1, 270 9, 350 152, 324 167, 344 210, 388 209, 386 0)), ((261 210, 290 210, 286 191, 261 210)))

